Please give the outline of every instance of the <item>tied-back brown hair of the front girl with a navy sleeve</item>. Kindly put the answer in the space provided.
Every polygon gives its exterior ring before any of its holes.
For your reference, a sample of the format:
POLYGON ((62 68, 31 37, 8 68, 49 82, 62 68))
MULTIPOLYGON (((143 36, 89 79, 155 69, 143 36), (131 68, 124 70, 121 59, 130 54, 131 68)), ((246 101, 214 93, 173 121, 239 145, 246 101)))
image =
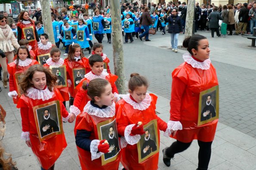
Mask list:
POLYGON ((83 81, 82 88, 84 90, 87 89, 87 94, 92 99, 92 101, 94 101, 94 98, 96 96, 100 97, 102 93, 105 92, 105 86, 107 86, 108 84, 109 82, 107 80, 102 78, 96 78, 90 81, 89 84, 87 81, 83 81))

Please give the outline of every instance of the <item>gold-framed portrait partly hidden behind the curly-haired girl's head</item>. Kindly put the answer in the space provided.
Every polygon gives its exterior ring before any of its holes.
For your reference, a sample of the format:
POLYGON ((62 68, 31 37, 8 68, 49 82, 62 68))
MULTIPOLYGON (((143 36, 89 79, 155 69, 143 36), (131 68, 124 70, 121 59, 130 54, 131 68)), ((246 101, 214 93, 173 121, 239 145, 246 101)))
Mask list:
POLYGON ((61 87, 67 87, 68 81, 67 81, 67 71, 66 66, 50 66, 50 69, 52 71, 52 74, 56 75, 58 77, 58 84, 56 85, 56 88, 61 87))

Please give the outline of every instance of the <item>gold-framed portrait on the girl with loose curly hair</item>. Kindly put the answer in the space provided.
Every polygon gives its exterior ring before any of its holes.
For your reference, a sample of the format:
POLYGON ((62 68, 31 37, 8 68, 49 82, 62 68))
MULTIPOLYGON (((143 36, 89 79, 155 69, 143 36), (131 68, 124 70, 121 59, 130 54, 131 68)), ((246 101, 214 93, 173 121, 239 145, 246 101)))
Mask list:
POLYGON ((62 116, 58 100, 33 107, 40 142, 63 133, 62 116), (48 117, 46 117, 48 113, 48 117))

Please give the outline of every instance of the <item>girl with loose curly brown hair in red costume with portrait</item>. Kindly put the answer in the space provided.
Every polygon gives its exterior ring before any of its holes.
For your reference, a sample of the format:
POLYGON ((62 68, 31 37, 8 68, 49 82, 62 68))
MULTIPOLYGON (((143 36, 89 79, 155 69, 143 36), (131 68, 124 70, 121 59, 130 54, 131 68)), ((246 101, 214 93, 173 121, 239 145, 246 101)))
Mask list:
POLYGON ((54 169, 56 160, 67 146, 62 121, 67 122, 70 114, 62 104, 59 90, 54 87, 56 81, 57 77, 52 75, 49 69, 38 64, 31 66, 21 82, 24 93, 17 104, 22 116, 22 139, 31 147, 43 170, 54 169), (52 103, 56 103, 56 107, 50 107, 52 103), (33 110, 35 107, 44 109, 43 113, 38 109, 37 113, 37 110, 33 110), (60 121, 54 119, 56 113, 52 113, 51 108, 59 110, 60 121), (40 124, 41 119, 43 120, 40 124), (43 126, 43 123, 47 123, 46 126, 43 126), (40 141, 39 137, 44 136, 46 138, 40 141))

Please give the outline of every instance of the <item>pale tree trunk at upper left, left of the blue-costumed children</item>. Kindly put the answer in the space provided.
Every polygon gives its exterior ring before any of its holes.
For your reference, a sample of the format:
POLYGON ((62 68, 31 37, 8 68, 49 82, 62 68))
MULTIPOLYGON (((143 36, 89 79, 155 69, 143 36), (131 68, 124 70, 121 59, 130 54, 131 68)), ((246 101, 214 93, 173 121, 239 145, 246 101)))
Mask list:
POLYGON ((40 4, 42 7, 44 33, 46 33, 49 36, 49 42, 52 42, 52 44, 55 45, 49 0, 40 0, 40 4))

